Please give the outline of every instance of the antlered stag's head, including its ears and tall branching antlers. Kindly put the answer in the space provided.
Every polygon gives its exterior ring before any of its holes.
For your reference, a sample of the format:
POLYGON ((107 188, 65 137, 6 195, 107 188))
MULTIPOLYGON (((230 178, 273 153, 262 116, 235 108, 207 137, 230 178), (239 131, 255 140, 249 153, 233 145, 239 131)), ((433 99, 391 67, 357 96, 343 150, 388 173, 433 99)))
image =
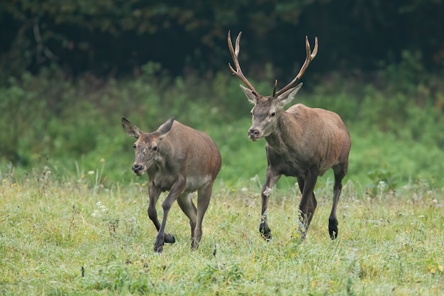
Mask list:
POLYGON ((239 43, 241 35, 242 32, 240 32, 238 37, 236 38, 234 49, 233 43, 231 41, 231 33, 230 31, 228 31, 228 48, 230 48, 235 69, 231 66, 229 62, 228 67, 230 67, 233 75, 239 77, 240 80, 242 80, 242 82, 247 85, 247 87, 240 85, 240 88, 243 90, 250 102, 255 105, 251 109, 252 126, 248 129, 248 137, 252 141, 257 141, 262 137, 269 136, 270 133, 275 130, 277 119, 279 118, 279 115, 284 111, 284 106, 289 104, 289 102, 292 102, 294 96, 302 87, 302 83, 299 83, 296 87, 292 87, 292 85, 296 83, 302 77, 302 75, 304 75, 304 72, 306 68, 309 67, 311 60, 313 60, 313 58, 316 56, 316 53, 318 53, 318 38, 315 38, 313 53, 311 53, 309 38, 305 38, 306 59, 304 65, 302 65, 301 67, 301 70, 299 70, 298 75, 294 77, 294 80, 292 80, 292 82, 290 82, 277 92, 277 80, 275 80, 273 94, 271 96, 262 96, 255 90, 252 84, 248 82, 247 78, 245 77, 245 75, 243 75, 243 72, 240 69, 238 55, 240 51, 239 43))

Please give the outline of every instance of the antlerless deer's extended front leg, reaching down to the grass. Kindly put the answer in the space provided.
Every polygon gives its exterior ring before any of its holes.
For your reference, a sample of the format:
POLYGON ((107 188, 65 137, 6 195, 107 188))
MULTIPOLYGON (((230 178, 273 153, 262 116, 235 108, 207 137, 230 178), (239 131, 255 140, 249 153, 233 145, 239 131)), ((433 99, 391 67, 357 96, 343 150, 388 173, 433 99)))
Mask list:
POLYGON ((171 234, 165 234, 165 226, 167 224, 168 212, 170 212, 173 202, 177 199, 177 197, 179 197, 180 194, 182 194, 184 189, 185 189, 185 180, 183 177, 179 177, 179 180, 177 180, 177 182, 174 183, 174 185, 170 190, 170 193, 168 194, 165 201, 162 203, 162 208, 163 208, 162 224, 160 224, 160 229, 159 232, 157 233, 156 241, 154 243, 154 251, 157 253, 162 253, 164 243, 170 242, 167 241, 167 239, 170 239, 168 236, 172 237, 173 240, 171 241, 172 243, 174 243, 175 241, 174 236, 172 236, 171 234))

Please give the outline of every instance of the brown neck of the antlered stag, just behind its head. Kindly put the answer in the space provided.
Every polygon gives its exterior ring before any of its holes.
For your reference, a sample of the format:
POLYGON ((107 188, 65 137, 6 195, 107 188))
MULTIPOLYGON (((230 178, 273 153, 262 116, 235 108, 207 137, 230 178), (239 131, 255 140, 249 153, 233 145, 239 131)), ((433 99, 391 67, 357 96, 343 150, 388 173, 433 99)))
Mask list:
POLYGON ((301 128, 291 114, 283 111, 277 118, 277 124, 274 131, 265 137, 268 146, 277 152, 284 153, 294 148, 293 141, 301 134, 301 128))

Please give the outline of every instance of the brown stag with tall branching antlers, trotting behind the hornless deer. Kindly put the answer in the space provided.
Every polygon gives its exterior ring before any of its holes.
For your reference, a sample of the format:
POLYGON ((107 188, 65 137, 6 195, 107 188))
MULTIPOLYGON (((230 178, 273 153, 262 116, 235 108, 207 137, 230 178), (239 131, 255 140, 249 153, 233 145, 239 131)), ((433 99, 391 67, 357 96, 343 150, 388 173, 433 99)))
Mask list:
POLYGON ((272 234, 267 224, 268 200, 271 188, 281 175, 296 177, 301 190, 299 203, 299 231, 304 239, 311 219, 316 209, 316 198, 313 189, 318 176, 322 176, 329 168, 333 169, 335 183, 333 185, 333 207, 328 218, 328 232, 331 239, 338 236, 338 219, 336 207, 342 190, 342 180, 347 173, 348 153, 350 152, 350 135, 347 127, 338 114, 318 108, 309 108, 303 104, 295 104, 287 111, 284 106, 292 102, 302 83, 296 87, 292 85, 298 81, 309 63, 318 52, 318 38, 315 38, 313 53, 306 37, 306 60, 298 75, 287 86, 276 92, 277 80, 274 82, 272 96, 262 96, 252 87, 240 70, 238 55, 240 50, 240 36, 235 42, 235 50, 228 31, 228 48, 235 69, 228 62, 233 75, 244 82, 248 88, 240 85, 250 102, 255 106, 251 110, 252 126, 248 129, 248 137, 252 141, 265 138, 267 142, 267 177, 262 186, 262 216, 260 233, 270 240, 272 234))

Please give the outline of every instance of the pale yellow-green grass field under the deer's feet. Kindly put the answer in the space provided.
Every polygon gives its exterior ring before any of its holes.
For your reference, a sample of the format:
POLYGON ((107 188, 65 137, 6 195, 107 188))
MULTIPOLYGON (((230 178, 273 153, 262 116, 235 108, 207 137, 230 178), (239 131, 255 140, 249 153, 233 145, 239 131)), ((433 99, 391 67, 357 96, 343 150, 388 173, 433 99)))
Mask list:
POLYGON ((104 187, 97 174, 0 172, 1 295, 444 295, 444 191, 423 180, 397 192, 381 183, 372 196, 347 182, 335 241, 331 182, 316 189, 303 242, 292 236, 299 190, 274 190, 269 243, 258 234, 259 182, 219 182, 199 249, 174 204, 177 242, 157 255, 147 178, 104 187))

